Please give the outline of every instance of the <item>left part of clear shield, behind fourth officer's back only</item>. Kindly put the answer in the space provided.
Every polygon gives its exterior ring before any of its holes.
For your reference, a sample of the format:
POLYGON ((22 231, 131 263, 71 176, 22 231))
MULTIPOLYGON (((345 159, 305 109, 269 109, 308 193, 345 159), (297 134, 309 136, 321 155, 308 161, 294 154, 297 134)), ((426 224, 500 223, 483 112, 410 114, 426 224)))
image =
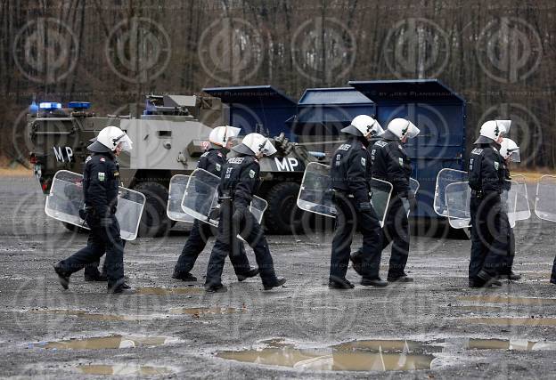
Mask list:
POLYGON ((311 162, 305 168, 299 188, 298 207, 310 213, 335 217, 332 203, 330 166, 311 162))

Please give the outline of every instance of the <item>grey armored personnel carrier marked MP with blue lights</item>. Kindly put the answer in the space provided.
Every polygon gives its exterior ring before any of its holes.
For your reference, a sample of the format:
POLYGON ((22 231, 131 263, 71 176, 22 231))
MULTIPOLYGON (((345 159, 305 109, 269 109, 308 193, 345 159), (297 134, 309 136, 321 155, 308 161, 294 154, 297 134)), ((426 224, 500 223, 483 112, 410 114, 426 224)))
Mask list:
MULTIPOLYGON (((28 115, 33 143, 29 161, 42 190, 48 193, 58 170, 82 172, 89 154, 86 146, 96 133, 107 125, 119 126, 134 142, 134 149, 119 157, 122 182, 146 198, 139 234, 161 236, 174 223, 166 215, 170 178, 192 173, 208 147, 210 129, 222 124, 222 103, 211 96, 149 95, 140 117, 100 117, 85 101, 70 101, 65 108, 57 102, 33 102, 28 115)), ((278 152, 260 160, 263 182, 258 196, 268 202, 266 229, 289 233, 300 225, 301 211, 296 206, 299 183, 307 163, 316 158, 283 133, 271 141, 278 152)))

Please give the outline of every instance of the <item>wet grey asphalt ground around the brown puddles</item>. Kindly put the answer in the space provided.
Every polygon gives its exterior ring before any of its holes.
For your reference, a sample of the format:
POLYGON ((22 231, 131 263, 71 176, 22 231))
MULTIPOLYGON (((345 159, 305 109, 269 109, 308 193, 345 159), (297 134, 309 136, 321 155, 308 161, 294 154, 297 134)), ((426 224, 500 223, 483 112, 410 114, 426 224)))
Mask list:
MULTIPOLYGON (((288 279, 286 287, 263 292, 258 278, 239 283, 226 263, 223 281, 229 291, 207 295, 200 287, 211 243, 192 271, 200 278, 198 283, 186 287, 170 278, 187 239, 186 228, 177 226, 167 238, 127 243, 126 274, 133 287, 143 288, 143 294, 107 295, 105 284, 85 282, 81 272, 72 276, 69 291, 61 289, 52 264, 82 247, 86 235, 72 233, 48 218, 44 200, 34 178, 0 178, 0 376, 95 376, 86 375, 86 368, 107 374, 97 375, 100 378, 113 371, 126 378, 152 374, 177 378, 554 376, 556 347, 548 343, 556 342, 556 287, 548 279, 556 252, 556 223, 536 216, 516 228, 514 269, 524 279, 504 282, 500 288, 467 287, 469 241, 414 237, 407 265, 414 283, 362 287, 350 269, 347 278, 356 288, 329 290, 332 233, 327 230, 268 237, 276 271, 288 279), (112 338, 121 348, 98 349, 89 344, 69 349, 47 344, 100 336, 124 336, 112 338), (497 349, 470 349, 473 338, 511 342, 497 349), (281 339, 286 345, 275 344, 281 339), (330 354, 327 347, 358 340, 416 341, 435 346, 424 349, 434 360, 431 369, 382 371, 375 366, 373 372, 356 372, 217 357, 219 351, 267 348, 269 340, 274 340, 270 346, 278 357, 285 346, 315 355, 330 354), (523 341, 532 343, 519 344, 523 341), (90 365, 96 367, 83 367, 90 365)), ((359 241, 356 238, 354 246, 359 241)), ((249 249, 248 255, 254 264, 249 249)), ((389 251, 382 257, 383 278, 388 256, 389 251)), ((411 344, 405 347, 400 360, 413 352, 411 344)))

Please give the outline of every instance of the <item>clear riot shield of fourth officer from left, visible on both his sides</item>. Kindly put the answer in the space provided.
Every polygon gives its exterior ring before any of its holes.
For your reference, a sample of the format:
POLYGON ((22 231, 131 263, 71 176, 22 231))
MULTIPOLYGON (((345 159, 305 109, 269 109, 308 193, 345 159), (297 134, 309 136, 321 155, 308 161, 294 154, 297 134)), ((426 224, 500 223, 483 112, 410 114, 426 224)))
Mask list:
MULTIPOLYGON (((380 226, 383 226, 392 195, 392 184, 375 178, 372 178, 369 184, 372 193, 371 203, 379 217, 380 226)), ((336 217, 336 207, 332 202, 330 166, 317 162, 307 165, 299 188, 297 204, 304 211, 336 217)))

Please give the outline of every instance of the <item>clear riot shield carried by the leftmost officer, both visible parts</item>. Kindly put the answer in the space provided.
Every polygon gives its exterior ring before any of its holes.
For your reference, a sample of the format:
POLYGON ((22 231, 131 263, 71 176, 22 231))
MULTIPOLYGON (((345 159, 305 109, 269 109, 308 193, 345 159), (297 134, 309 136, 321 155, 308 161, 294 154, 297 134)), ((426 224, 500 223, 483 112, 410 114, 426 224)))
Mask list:
MULTIPOLYGON (((137 238, 144 204, 145 197, 142 193, 119 188, 116 218, 119 222, 119 233, 122 239, 134 240, 137 238)), ((83 175, 67 170, 54 174, 50 193, 46 197, 45 213, 58 221, 89 230, 86 222, 79 216, 79 210, 84 206, 83 175)))

